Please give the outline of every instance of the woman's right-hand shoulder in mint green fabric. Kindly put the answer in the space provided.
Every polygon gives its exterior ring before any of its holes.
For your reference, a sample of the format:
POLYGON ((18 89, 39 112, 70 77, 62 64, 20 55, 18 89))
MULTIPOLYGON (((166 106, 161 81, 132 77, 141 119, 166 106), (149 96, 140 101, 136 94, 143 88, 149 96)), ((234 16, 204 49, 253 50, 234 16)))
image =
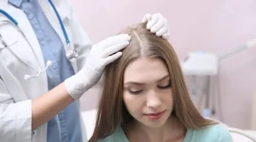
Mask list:
POLYGON ((203 141, 214 142, 232 142, 230 132, 220 124, 212 124, 200 129, 190 130, 195 138, 203 139, 203 141))

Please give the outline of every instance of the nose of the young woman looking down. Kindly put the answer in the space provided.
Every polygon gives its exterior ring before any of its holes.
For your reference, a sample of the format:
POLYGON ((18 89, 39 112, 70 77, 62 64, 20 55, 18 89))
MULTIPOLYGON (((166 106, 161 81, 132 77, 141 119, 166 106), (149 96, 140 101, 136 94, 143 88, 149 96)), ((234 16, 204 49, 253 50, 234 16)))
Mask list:
POLYGON ((162 104, 160 96, 154 91, 150 91, 147 94, 147 106, 152 109, 158 109, 162 104))

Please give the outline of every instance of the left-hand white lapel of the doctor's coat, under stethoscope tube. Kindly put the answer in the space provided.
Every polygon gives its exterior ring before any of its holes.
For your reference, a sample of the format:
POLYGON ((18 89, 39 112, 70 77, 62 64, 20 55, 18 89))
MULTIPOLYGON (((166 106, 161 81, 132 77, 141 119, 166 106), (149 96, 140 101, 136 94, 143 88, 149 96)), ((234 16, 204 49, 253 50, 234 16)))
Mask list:
MULTIPOLYGON (((23 13, 20 9, 16 9, 11 4, 8 4, 7 1, 0 1, 0 9, 3 9, 5 12, 10 14, 19 24, 20 30, 23 31, 26 39, 22 37, 22 34, 15 30, 15 27, 12 27, 10 24, 1 24, 0 33, 2 32, 3 39, 5 37, 11 38, 12 34, 14 37, 17 36, 17 43, 9 46, 11 51, 26 65, 32 67, 32 69, 38 71, 38 62, 41 68, 44 68, 44 57, 38 44, 38 39, 32 29, 32 26, 26 18, 26 14, 23 13), (3 28, 5 26, 5 28, 3 28), (38 58, 38 59, 37 59, 38 58)), ((3 14, 0 15, 0 21, 8 20, 3 14)))

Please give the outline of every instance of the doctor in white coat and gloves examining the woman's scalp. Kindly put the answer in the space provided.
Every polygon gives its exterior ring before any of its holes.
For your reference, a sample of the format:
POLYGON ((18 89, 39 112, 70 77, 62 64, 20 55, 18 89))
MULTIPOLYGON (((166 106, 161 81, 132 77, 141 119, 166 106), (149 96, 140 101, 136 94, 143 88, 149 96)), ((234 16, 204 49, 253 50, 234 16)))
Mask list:
MULTIPOLYGON (((161 14, 143 22, 169 37, 161 14)), ((67 0, 0 0, 0 141, 87 141, 79 98, 130 39, 92 45, 67 0)))

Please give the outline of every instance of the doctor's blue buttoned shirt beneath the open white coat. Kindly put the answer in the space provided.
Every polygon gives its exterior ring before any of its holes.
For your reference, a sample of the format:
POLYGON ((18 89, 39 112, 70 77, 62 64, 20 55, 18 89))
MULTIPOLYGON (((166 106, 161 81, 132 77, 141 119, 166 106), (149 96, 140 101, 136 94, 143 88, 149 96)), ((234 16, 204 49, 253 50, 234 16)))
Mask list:
MULTIPOLYGON (((66 58, 61 39, 49 24, 38 0, 9 0, 9 3, 24 11, 38 38, 45 63, 47 60, 52 61, 47 70, 49 90, 73 76, 73 67, 66 58)), ((79 101, 75 101, 48 122, 47 141, 81 142, 79 116, 79 101)))

